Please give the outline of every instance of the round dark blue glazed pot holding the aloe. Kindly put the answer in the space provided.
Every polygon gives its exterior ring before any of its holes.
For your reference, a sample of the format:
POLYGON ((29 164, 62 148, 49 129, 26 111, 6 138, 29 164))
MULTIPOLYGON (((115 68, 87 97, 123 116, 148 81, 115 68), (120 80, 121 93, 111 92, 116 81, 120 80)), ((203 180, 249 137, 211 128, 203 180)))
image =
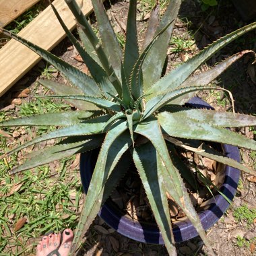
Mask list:
MULTIPOLYGON (((212 108, 209 104, 196 97, 192 98, 187 105, 194 108, 212 108)), ((226 153, 226 156, 240 162, 240 154, 237 147, 222 145, 222 148, 226 153)), ((80 174, 85 193, 87 193, 90 180, 92 179, 92 172, 96 164, 96 157, 97 154, 94 152, 81 154, 80 174)), ((222 191, 228 199, 232 200, 236 193, 240 170, 226 166, 224 173, 224 183, 220 188, 220 191, 222 191)), ((214 198, 210 199, 207 204, 210 204, 210 207, 208 207, 207 210, 198 213, 205 230, 213 226, 221 218, 224 212, 226 212, 229 206, 228 201, 226 201, 222 195, 216 195, 214 198)), ((162 235, 156 224, 132 220, 129 216, 121 212, 121 210, 119 210, 110 199, 108 199, 102 206, 98 216, 100 216, 106 224, 117 230, 117 232, 135 241, 161 245, 164 244, 162 235)), ((187 241, 198 236, 197 231, 189 220, 175 222, 172 230, 174 233, 174 240, 177 243, 187 241)))

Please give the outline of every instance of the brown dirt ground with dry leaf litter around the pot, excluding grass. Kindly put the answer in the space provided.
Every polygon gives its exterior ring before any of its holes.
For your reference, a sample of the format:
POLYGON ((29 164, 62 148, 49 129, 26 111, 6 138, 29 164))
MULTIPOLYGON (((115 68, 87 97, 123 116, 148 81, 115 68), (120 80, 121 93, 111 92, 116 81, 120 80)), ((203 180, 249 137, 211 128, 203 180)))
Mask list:
MULTIPOLYGON (((208 43, 216 40, 220 36, 231 32, 232 30, 245 25, 245 22, 241 20, 240 15, 232 3, 222 3, 220 1, 218 8, 209 10, 205 13, 201 12, 200 6, 196 4, 196 1, 187 0, 183 1, 181 11, 179 14, 180 20, 177 21, 174 34, 181 36, 182 38, 189 38, 191 35, 195 38, 195 45, 189 47, 188 51, 173 53, 169 55, 170 61, 179 63, 184 61, 187 57, 195 54, 199 49, 208 43), (188 32, 189 30, 189 32, 188 32)), ((225 1, 226 2, 226 1, 225 1)), ((125 17, 127 13, 128 1, 113 1, 112 6, 108 9, 108 13, 115 23, 115 30, 122 32, 124 30, 123 24, 125 24, 125 17)), ((143 11, 143 10, 142 10, 143 11)), ((144 20, 147 13, 141 14, 138 12, 138 30, 142 31, 146 26, 144 20)), ((125 31, 123 31, 125 32, 125 31)), ((214 65, 221 59, 241 51, 242 49, 256 49, 255 41, 256 32, 249 33, 241 40, 233 42, 222 50, 218 55, 212 58, 207 65, 214 65)), ((71 44, 64 40, 54 50, 54 53, 61 56, 62 59, 69 63, 84 69, 85 65, 82 62, 75 59, 75 50, 70 47, 71 44)), ((245 57, 238 63, 234 64, 228 71, 220 77, 220 82, 224 88, 234 88, 232 90, 234 99, 236 100, 236 111, 240 113, 256 113, 256 90, 255 90, 255 70, 251 67, 252 61, 245 57), (254 76, 253 76, 254 72, 254 76), (240 86, 234 86, 238 84, 240 86)), ((38 69, 43 69, 45 63, 40 61, 32 71, 28 73, 24 78, 18 82, 12 90, 7 92, 5 96, 1 98, 2 102, 7 101, 13 97, 13 93, 17 90, 22 90, 28 85, 33 86, 34 82, 40 75, 38 69)), ((205 65, 203 68, 206 68, 205 65)), ((59 73, 53 74, 55 79, 61 79, 59 73)), ((201 94, 203 98, 206 98, 210 104, 216 108, 228 108, 229 105, 219 104, 220 100, 216 98, 216 95, 201 94)), ((3 104, 3 103, 2 103, 3 104)), ((247 129, 238 131, 250 136, 251 133, 247 129)), ((252 135, 253 136, 253 135, 252 135)), ((249 152, 241 152, 243 162, 247 166, 253 166, 253 159, 249 152)), ((248 181, 246 174, 241 175, 241 181, 243 185, 239 186, 234 202, 230 207, 230 210, 221 218, 221 220, 215 224, 210 230, 207 230, 207 236, 212 242, 214 251, 218 255, 256 255, 256 219, 253 224, 248 224, 245 220, 240 222, 236 221, 232 212, 233 208, 247 205, 249 209, 256 210, 255 192, 256 185, 248 181), (245 241, 248 241, 245 246, 238 246, 237 236, 241 236, 245 241), (254 241, 254 242, 253 242, 254 241)), ((146 245, 138 243, 129 238, 121 236, 115 230, 107 226, 103 220, 96 218, 94 224, 91 226, 88 232, 88 240, 84 245, 84 250, 81 255, 168 255, 164 246, 162 245, 146 245)), ((207 255, 207 251, 203 246, 200 238, 194 238, 191 241, 186 241, 177 245, 178 254, 183 255, 207 255)))

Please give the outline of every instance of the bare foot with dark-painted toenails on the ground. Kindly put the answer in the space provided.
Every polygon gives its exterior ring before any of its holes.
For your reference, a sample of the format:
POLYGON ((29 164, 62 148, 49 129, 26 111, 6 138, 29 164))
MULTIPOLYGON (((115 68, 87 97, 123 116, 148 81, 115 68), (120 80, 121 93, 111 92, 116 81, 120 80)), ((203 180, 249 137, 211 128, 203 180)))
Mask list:
POLYGON ((42 237, 36 247, 36 256, 67 256, 73 241, 73 232, 67 228, 61 234, 49 234, 42 237))

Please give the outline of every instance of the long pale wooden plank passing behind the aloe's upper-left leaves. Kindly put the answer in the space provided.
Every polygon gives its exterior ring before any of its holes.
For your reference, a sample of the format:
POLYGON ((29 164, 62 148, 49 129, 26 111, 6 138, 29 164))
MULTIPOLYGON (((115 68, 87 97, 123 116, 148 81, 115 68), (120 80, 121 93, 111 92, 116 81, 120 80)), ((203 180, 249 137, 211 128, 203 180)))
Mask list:
MULTIPOLYGON (((92 2, 90 0, 77 1, 82 6, 85 15, 92 12, 92 2)), ((53 2, 59 11, 67 27, 71 30, 75 28, 75 17, 67 7, 64 0, 55 0, 53 2)), ((26 28, 20 33, 20 36, 38 44, 43 49, 53 49, 64 37, 65 32, 59 24, 51 6, 40 13, 26 28)), ((28 49, 26 46, 11 39, 0 49, 0 96, 2 96, 15 82, 29 71, 40 57, 28 49)))

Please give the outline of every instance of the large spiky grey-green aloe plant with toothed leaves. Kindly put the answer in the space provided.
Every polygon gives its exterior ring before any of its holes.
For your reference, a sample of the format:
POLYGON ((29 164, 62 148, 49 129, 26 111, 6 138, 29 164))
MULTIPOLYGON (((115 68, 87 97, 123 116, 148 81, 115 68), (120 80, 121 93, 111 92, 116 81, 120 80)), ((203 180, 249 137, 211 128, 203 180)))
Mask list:
POLYGON ((71 255, 74 255, 100 207, 123 177, 125 168, 118 167, 133 160, 168 253, 176 255, 166 192, 185 212, 205 245, 213 253, 187 194, 183 175, 181 176, 184 173, 183 167, 178 169, 172 162, 172 153, 167 144, 172 143, 174 147, 196 152, 222 164, 255 174, 253 170, 213 150, 207 146, 207 143, 203 143, 203 148, 195 148, 193 146, 195 144, 185 143, 184 139, 199 142, 215 141, 256 150, 255 141, 226 129, 254 126, 256 117, 186 108, 183 104, 200 90, 224 90, 211 85, 210 82, 243 55, 247 53, 255 55, 255 53, 242 51, 204 73, 193 76, 192 74, 226 44, 256 28, 256 22, 220 38, 187 62, 163 75, 168 43, 181 0, 170 1, 162 19, 158 17, 157 8, 153 10, 142 49, 139 49, 137 40, 137 3, 136 0, 131 0, 124 51, 119 46, 100 0, 92 1, 100 38, 96 36, 88 20, 79 10, 76 1, 65 0, 65 2, 77 20, 81 42, 69 32, 52 5, 53 10, 86 63, 90 75, 79 71, 32 42, 1 29, 1 32, 28 46, 67 77, 71 86, 40 79, 38 81, 40 84, 57 94, 47 97, 65 99, 79 108, 79 111, 75 112, 34 115, 0 123, 0 127, 22 125, 58 127, 55 131, 35 137, 18 146, 8 154, 48 139, 61 139, 55 146, 30 154, 30 160, 13 168, 11 174, 65 156, 99 148, 98 160, 73 240, 71 255))

